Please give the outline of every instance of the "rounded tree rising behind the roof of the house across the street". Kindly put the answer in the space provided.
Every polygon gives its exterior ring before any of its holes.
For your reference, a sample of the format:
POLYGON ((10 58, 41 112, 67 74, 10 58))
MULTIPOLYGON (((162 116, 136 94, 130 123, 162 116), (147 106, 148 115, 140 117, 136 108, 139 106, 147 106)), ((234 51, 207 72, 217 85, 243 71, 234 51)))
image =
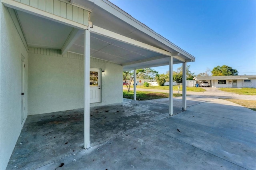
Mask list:
POLYGON ((233 69, 227 65, 222 65, 221 67, 218 65, 212 69, 211 73, 212 76, 238 75, 238 71, 236 69, 233 69))

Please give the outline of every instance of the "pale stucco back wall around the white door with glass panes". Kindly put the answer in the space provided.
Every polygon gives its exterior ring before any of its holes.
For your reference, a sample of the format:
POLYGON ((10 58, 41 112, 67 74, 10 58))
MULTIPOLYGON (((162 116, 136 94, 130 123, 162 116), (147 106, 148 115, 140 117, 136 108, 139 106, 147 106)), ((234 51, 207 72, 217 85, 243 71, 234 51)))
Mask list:
MULTIPOLYGON (((40 48, 29 52, 28 115, 83 108, 84 56, 40 48)), ((90 106, 121 103, 122 66, 91 58, 90 67, 106 72, 102 75, 102 102, 90 106)))

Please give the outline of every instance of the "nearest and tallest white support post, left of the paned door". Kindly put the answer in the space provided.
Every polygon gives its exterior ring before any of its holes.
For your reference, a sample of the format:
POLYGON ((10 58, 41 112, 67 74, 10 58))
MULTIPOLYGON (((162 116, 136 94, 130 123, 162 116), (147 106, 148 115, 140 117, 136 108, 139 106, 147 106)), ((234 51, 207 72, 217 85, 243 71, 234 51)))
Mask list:
POLYGON ((90 147, 90 31, 84 31, 84 148, 90 147))

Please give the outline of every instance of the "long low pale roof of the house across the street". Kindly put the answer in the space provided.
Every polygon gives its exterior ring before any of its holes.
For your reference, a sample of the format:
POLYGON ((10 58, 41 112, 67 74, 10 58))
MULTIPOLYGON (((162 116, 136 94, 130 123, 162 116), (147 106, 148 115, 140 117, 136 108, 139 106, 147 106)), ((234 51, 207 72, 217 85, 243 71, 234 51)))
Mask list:
POLYGON ((196 76, 193 80, 239 80, 239 79, 250 79, 256 78, 256 75, 226 75, 226 76, 196 76))

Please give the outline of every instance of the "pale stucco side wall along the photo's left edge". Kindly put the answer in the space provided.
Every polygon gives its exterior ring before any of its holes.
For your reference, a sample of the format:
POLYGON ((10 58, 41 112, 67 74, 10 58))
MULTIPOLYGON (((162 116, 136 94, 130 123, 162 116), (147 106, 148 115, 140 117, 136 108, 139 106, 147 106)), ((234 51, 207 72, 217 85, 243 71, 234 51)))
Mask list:
MULTIPOLYGON (((27 117, 28 53, 0 0, 0 169, 5 169, 24 125, 21 123, 21 56, 25 57, 24 107, 27 117)), ((24 119, 24 120, 25 120, 24 119)))

